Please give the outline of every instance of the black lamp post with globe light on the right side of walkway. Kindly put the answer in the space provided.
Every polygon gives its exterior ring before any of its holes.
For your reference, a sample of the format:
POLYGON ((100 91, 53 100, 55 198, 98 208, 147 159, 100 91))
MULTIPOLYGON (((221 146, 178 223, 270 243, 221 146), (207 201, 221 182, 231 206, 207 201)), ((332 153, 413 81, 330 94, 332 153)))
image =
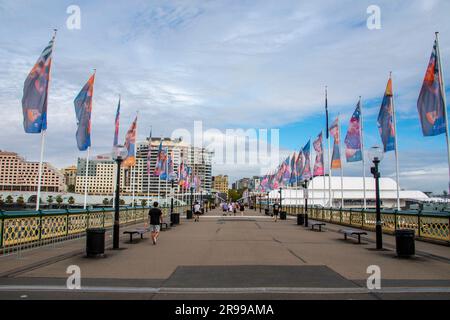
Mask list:
POLYGON ((376 245, 377 249, 383 249, 383 230, 381 225, 381 199, 380 199, 380 171, 379 164, 383 160, 383 149, 374 146, 369 150, 369 159, 373 162, 373 167, 370 168, 370 172, 375 178, 375 208, 376 208, 376 245))

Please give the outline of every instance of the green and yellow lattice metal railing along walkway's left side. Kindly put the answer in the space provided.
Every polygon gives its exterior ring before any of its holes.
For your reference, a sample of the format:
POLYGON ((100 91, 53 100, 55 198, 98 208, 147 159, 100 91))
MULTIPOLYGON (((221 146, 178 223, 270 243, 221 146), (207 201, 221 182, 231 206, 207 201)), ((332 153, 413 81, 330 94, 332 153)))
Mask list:
MULTIPOLYGON (((174 212, 182 213, 188 208, 188 205, 177 205, 174 212)), ((120 207, 120 224, 147 221, 148 209, 120 207)), ((161 210, 164 217, 170 213, 169 206, 163 206, 161 210)), ((88 228, 111 229, 113 223, 114 208, 0 211, 0 254, 12 248, 80 237, 88 228)))

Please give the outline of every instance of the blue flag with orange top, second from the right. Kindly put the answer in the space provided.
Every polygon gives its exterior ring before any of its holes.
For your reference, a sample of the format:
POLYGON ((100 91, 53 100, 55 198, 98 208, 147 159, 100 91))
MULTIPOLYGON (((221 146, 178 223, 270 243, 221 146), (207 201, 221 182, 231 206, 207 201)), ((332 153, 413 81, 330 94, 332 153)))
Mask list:
POLYGON ((392 99, 392 79, 389 78, 377 120, 384 152, 395 150, 394 106, 392 99))

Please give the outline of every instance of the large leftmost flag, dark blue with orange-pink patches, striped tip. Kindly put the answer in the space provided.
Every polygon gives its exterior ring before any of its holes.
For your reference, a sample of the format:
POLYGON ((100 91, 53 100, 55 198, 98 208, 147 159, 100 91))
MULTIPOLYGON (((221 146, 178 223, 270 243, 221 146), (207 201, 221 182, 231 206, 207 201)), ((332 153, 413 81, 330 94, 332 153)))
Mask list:
POLYGON ((47 100, 55 36, 42 51, 23 85, 23 128, 26 133, 47 130, 47 100))

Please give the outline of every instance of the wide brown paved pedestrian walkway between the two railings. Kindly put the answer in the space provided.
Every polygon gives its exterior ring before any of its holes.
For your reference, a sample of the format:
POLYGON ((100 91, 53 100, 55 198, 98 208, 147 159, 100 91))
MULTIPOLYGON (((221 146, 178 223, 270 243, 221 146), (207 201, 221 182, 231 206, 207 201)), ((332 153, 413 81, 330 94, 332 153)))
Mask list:
POLYGON ((1 257, 0 299, 450 298, 449 247, 417 241, 416 256, 400 259, 392 236, 375 251, 372 232, 358 245, 340 228, 316 232, 294 217, 216 209, 199 222, 183 217, 156 246, 148 235, 133 244, 122 236, 112 250, 108 233, 104 258, 86 258, 84 238, 1 257), (81 290, 65 287, 71 265, 80 267, 81 290), (378 291, 366 287, 371 265, 381 270, 378 291))

